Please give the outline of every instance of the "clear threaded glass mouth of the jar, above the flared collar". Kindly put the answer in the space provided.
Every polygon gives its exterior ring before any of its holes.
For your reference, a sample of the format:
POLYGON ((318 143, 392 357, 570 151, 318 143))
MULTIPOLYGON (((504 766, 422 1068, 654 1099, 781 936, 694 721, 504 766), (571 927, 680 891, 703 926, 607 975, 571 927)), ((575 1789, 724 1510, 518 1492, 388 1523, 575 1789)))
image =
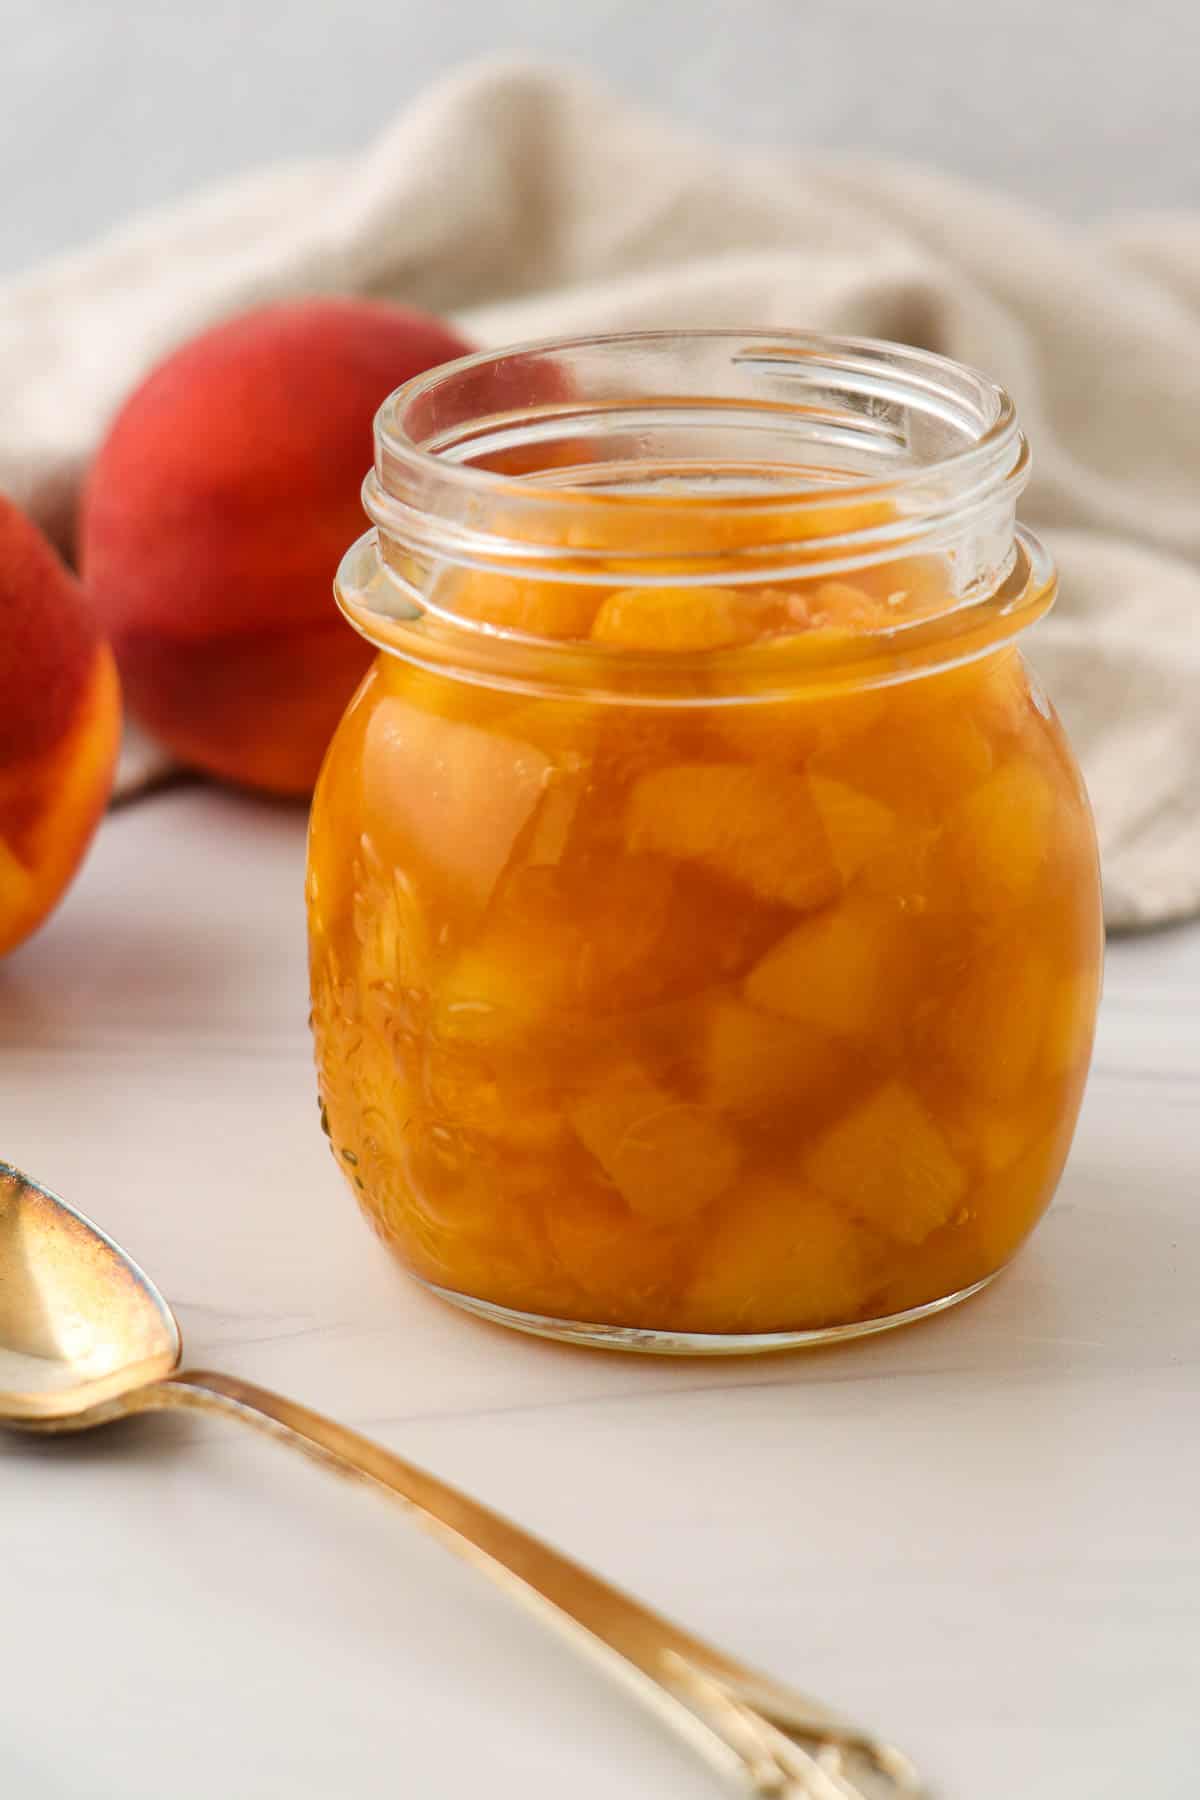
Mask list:
POLYGON ((675 585, 730 578, 730 563, 779 580, 790 522, 804 572, 878 562, 1000 497, 1015 508, 1027 473, 1009 394, 932 351, 630 331, 480 351, 407 382, 376 414, 363 500, 380 531, 468 565, 610 583, 628 563, 675 585), (714 461, 720 486, 703 482, 714 461), (871 500, 892 517, 855 522, 871 500), (738 515, 736 554, 694 551, 712 504, 738 515))

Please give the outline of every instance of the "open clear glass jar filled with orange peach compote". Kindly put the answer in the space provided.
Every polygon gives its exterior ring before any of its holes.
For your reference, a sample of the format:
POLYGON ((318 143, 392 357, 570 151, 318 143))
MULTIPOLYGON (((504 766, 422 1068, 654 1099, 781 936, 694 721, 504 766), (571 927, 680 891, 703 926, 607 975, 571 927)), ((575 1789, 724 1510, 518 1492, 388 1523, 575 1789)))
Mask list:
POLYGON ((1015 641, 1007 396, 912 349, 631 335, 432 371, 338 599, 322 1120, 428 1287, 747 1352, 973 1294, 1051 1201, 1096 839, 1015 641))

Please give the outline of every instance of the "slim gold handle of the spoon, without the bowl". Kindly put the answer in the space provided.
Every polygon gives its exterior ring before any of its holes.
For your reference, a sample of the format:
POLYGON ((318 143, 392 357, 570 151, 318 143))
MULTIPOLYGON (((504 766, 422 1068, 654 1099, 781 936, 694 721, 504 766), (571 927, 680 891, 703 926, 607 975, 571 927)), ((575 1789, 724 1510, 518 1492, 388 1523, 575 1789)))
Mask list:
POLYGON ((160 1408, 241 1418, 383 1489, 448 1550, 624 1679, 743 1791, 779 1800, 891 1800, 925 1791, 910 1764, 869 1732, 660 1618, 371 1438, 234 1375, 185 1370, 122 1404, 122 1411, 160 1408))

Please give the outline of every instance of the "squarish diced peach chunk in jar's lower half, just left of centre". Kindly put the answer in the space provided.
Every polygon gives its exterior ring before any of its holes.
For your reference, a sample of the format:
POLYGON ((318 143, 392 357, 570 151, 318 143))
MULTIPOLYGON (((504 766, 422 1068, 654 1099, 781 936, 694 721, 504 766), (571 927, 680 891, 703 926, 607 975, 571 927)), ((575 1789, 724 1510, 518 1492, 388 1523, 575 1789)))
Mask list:
POLYGON ((642 1219, 669 1224, 702 1213, 738 1172, 738 1141, 720 1118, 633 1066, 576 1100, 569 1118, 642 1219))

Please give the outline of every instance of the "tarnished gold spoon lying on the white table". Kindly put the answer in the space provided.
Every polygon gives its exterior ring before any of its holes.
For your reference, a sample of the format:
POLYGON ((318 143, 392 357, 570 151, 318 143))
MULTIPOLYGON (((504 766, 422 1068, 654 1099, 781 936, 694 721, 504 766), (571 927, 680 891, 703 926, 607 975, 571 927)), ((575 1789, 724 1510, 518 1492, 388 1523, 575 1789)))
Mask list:
POLYGON ((752 1795, 923 1795, 910 1764, 770 1676, 680 1631, 516 1525, 371 1438, 236 1375, 180 1370, 162 1294, 112 1238, 0 1163, 0 1424, 83 1431, 189 1408, 241 1418, 399 1499, 466 1562, 622 1678, 752 1795))

